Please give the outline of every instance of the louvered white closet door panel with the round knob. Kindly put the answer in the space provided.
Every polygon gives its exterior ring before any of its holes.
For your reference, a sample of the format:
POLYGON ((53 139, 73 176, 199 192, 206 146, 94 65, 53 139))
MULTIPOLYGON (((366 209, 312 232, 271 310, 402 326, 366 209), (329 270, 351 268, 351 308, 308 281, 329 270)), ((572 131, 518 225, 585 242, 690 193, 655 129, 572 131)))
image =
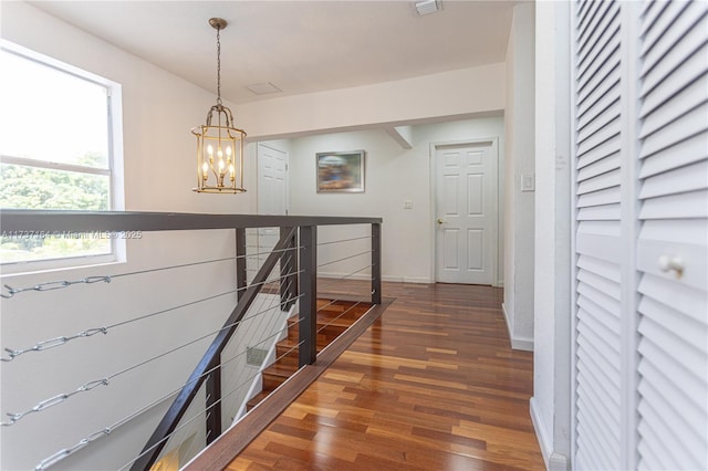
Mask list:
POLYGON ((708 469, 707 13, 642 13, 639 469, 708 469))

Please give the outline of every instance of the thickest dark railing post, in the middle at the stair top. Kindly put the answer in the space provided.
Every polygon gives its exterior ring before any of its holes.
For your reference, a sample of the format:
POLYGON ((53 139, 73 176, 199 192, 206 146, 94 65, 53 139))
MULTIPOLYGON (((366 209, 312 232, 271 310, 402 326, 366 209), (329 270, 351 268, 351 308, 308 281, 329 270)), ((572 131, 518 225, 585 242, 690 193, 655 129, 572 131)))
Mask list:
POLYGON ((317 359, 317 227, 300 228, 300 327, 298 364, 317 359))

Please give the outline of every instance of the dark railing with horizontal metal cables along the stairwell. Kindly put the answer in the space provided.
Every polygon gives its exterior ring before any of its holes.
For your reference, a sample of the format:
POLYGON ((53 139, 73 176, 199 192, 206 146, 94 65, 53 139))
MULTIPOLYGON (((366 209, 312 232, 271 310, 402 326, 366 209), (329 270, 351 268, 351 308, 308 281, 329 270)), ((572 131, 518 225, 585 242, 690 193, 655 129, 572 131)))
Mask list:
POLYGON ((313 364, 330 324, 381 304, 381 222, 0 211, 6 233, 146 234, 123 263, 2 276, 0 468, 184 465, 247 414, 267 366, 313 364))

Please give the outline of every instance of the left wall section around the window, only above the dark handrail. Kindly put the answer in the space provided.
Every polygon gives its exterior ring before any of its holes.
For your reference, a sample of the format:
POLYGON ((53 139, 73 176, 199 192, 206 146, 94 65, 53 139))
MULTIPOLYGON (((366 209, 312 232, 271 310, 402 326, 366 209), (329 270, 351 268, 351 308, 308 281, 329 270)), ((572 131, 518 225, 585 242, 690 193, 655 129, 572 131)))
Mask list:
MULTIPOLYGON (((190 191, 196 145, 189 129, 204 124, 214 93, 24 2, 3 2, 2 38, 123 85, 126 210, 243 213, 254 207, 252 191, 233 198, 190 191)), ((247 189, 254 185, 253 156, 249 149, 247 189)))

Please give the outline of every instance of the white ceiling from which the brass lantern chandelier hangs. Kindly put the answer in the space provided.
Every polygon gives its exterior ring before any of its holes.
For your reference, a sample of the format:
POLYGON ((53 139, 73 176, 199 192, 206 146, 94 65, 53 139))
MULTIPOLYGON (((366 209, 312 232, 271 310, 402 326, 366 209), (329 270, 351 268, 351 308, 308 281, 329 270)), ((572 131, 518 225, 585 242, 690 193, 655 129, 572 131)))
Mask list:
POLYGON ((516 1, 30 1, 235 104, 503 62, 516 1), (272 83, 282 92, 247 87, 272 83))

